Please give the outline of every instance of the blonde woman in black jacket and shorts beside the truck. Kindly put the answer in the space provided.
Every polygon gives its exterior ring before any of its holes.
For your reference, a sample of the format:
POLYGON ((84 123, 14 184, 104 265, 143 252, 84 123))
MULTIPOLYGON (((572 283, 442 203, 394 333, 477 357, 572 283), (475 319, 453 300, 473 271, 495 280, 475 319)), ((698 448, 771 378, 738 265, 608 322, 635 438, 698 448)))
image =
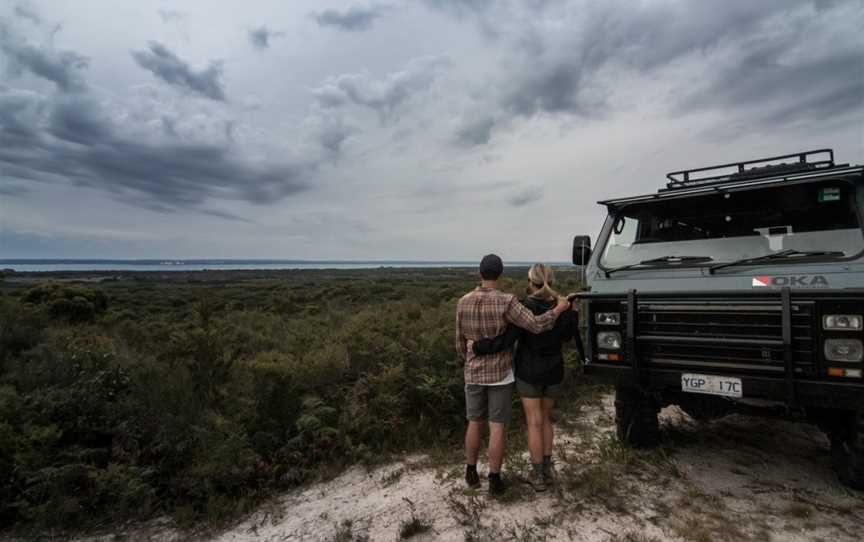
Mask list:
MULTIPOLYGON (((552 289, 555 277, 552 269, 542 263, 528 270, 528 296, 522 304, 534 314, 542 314, 555 306, 558 294, 552 289)), ((528 425, 528 450, 531 454, 529 481, 536 491, 545 491, 552 482, 552 407, 564 380, 564 357, 561 345, 578 337, 578 318, 571 309, 558 317, 555 327, 532 335, 516 326, 492 339, 474 342, 474 353, 491 354, 511 348, 518 340, 514 357, 516 389, 522 398, 528 425)))

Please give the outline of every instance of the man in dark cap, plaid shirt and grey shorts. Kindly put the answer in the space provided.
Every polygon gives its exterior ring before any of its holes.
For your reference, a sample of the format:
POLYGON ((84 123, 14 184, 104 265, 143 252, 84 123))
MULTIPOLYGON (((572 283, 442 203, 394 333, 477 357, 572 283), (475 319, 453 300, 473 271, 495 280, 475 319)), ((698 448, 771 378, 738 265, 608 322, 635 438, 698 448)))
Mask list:
POLYGON ((465 360, 465 409, 468 429, 465 432, 465 481, 471 487, 480 485, 477 456, 480 453, 483 425, 489 423, 489 492, 500 494, 506 486, 501 480, 504 460, 504 438, 510 421, 513 383, 512 348, 488 355, 476 355, 468 341, 496 337, 508 323, 531 333, 551 329, 555 320, 569 307, 563 297, 555 308, 534 315, 513 294, 498 289, 504 272, 501 258, 495 254, 480 262, 480 286, 465 294, 456 306, 456 352, 465 360))

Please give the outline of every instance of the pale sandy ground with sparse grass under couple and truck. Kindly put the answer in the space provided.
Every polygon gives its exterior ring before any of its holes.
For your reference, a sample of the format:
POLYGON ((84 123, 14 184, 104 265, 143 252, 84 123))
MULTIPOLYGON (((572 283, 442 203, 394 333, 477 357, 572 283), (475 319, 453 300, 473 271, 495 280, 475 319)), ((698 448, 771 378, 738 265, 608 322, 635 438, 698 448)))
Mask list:
POLYGON ((442 541, 862 540, 864 494, 836 480, 813 427, 737 415, 697 424, 670 407, 664 445, 632 451, 612 438, 611 396, 581 409, 559 427, 558 482, 545 493, 524 483, 519 450, 502 499, 467 490, 461 465, 417 456, 285 494, 218 534, 151 525, 80 540, 393 541, 410 527, 412 540, 442 541))

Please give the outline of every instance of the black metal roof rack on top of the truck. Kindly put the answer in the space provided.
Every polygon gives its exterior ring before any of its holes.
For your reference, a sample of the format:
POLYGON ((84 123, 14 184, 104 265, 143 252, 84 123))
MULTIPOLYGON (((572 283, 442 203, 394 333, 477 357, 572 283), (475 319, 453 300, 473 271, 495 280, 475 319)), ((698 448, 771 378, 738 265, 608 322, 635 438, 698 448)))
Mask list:
POLYGON ((666 183, 666 188, 661 188, 660 192, 668 190, 681 190, 683 188, 694 188, 697 186, 705 186, 712 184, 723 184, 742 179, 755 179, 759 177, 768 177, 771 175, 784 173, 797 173, 802 171, 810 171, 814 169, 828 169, 834 167, 834 150, 833 149, 818 149, 815 151, 803 151, 795 154, 784 154, 783 156, 772 156, 770 158, 759 158, 758 160, 748 160, 746 162, 732 162, 731 164, 721 164, 719 166, 709 166, 697 169, 685 169, 682 171, 673 171, 666 174, 669 182, 666 183), (825 156, 827 154, 827 156, 825 156), (814 155, 816 156, 814 159, 814 155), (795 158, 797 162, 780 164, 769 164, 768 162, 776 162, 787 158, 795 158), (757 166, 755 164, 764 164, 757 166), (745 167, 753 166, 753 167, 745 167), (717 170, 728 170, 736 168, 736 171, 716 174, 717 170), (693 177, 694 173, 714 172, 714 175, 705 177, 693 177))

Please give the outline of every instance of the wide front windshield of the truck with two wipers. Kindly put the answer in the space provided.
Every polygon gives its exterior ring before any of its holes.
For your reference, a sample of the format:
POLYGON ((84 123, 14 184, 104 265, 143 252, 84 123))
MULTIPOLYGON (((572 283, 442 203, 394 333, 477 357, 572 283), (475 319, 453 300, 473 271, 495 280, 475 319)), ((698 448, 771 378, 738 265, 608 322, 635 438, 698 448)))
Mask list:
POLYGON ((864 250, 855 188, 836 180, 634 203, 610 220, 600 260, 607 269, 692 254, 716 264, 781 251, 848 257, 864 250))

